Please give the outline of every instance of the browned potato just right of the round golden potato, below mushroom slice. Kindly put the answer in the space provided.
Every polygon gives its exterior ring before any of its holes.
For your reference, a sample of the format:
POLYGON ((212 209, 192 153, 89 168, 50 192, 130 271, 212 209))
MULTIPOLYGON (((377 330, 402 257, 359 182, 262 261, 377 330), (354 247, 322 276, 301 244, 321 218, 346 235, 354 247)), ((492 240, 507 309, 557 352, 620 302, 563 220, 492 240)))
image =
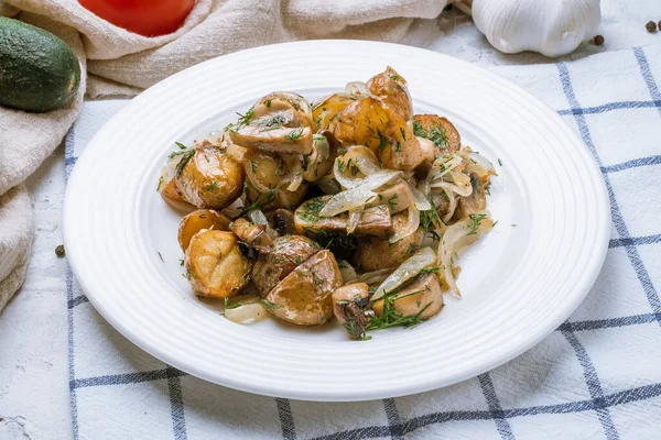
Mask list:
POLYGON ((253 202, 262 196, 262 208, 294 210, 307 193, 308 184, 305 182, 295 191, 286 189, 290 184, 286 163, 273 153, 250 150, 246 153, 242 166, 248 182, 248 200, 253 202))

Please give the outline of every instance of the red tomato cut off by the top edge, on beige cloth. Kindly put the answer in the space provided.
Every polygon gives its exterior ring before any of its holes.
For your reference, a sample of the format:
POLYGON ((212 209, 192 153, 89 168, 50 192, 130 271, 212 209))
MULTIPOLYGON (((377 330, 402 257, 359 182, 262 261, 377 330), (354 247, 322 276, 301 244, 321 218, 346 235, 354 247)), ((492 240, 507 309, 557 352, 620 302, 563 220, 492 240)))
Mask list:
POLYGON ((80 4, 127 31, 156 36, 180 29, 195 0, 80 0, 80 4))

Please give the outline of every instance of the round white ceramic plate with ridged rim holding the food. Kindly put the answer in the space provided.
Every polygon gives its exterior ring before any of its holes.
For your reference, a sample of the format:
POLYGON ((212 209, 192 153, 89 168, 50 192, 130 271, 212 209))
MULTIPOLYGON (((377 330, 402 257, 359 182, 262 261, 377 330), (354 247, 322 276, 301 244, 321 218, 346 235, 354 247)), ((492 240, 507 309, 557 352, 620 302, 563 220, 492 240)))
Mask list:
POLYGON ((424 392, 505 363, 577 307, 602 267, 608 237, 602 175, 552 110, 470 64, 356 41, 239 52, 150 88, 93 139, 71 176, 64 209, 76 277, 128 339, 210 382, 311 400, 424 392), (372 332, 367 342, 348 341, 336 324, 236 324, 196 299, 180 266, 181 215, 155 191, 174 142, 223 128, 269 91, 313 100, 387 65, 409 81, 418 113, 446 116, 499 173, 488 198, 498 223, 460 257, 464 298, 446 295, 440 316, 413 330, 372 332))

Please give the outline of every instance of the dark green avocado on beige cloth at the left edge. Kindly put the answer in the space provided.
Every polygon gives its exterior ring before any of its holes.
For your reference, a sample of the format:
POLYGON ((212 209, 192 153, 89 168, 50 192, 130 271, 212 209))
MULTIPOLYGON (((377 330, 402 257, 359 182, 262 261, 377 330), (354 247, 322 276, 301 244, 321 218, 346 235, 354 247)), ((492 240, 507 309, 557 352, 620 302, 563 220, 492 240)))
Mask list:
POLYGON ((0 18, 0 106, 45 112, 76 95, 80 65, 65 42, 36 26, 0 18))

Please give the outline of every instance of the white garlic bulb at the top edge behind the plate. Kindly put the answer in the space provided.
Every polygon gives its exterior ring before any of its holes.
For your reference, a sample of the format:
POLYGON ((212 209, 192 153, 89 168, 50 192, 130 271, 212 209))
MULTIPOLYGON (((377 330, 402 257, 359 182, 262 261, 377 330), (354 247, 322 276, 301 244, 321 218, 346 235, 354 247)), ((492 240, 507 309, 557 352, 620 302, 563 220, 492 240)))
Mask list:
POLYGON ((500 52, 554 57, 595 36, 599 0, 473 0, 473 20, 500 52))

